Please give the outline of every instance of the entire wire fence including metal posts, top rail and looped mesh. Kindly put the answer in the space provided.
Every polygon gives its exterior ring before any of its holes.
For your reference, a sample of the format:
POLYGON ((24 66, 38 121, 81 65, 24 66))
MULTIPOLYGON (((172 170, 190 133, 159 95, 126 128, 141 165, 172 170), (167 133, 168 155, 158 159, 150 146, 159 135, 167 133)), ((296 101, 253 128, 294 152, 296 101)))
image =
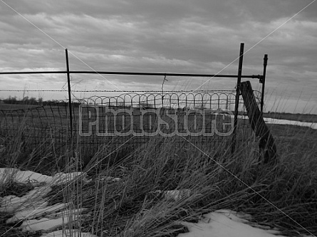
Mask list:
MULTIPOLYGON (((243 51, 244 44, 241 43, 238 75, 70 71, 67 50, 66 71, 0 72, 0 75, 66 73, 68 84, 68 100, 12 105, 7 109, 0 106, 0 143, 7 146, 18 142, 25 154, 33 152, 39 145, 55 155, 74 149, 87 159, 93 157, 100 146, 107 147, 109 153, 122 147, 120 152, 127 154, 153 139, 157 144, 173 139, 172 144, 177 146, 194 144, 214 152, 219 150, 219 146, 222 150, 234 148, 237 142, 254 139, 244 103, 239 100, 241 78, 259 79, 262 90, 261 93, 254 91, 254 95, 261 111, 264 104, 267 55, 264 56, 263 75, 242 75, 243 51), (162 85, 162 91, 130 91, 113 95, 115 90, 93 90, 89 92, 98 95, 80 98, 73 93, 88 90, 71 90, 72 73, 150 75, 164 76, 164 79, 166 76, 237 78, 237 87, 236 90, 163 91, 162 85), (157 130, 161 132, 158 135, 157 130)), ((115 156, 123 154, 116 152, 115 156)))

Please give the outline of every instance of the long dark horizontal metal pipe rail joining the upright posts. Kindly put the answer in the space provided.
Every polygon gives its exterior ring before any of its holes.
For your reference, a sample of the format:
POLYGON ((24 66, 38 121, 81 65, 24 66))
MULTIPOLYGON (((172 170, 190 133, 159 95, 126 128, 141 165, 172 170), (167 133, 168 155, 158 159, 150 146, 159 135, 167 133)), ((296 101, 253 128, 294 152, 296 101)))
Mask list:
MULTIPOLYGON (((49 71, 26 71, 26 72, 0 72, 0 75, 13 74, 63 74, 68 73, 66 70, 49 70, 49 71)), ((70 74, 108 74, 108 75, 160 75, 170 77, 197 77, 197 78, 237 78, 238 75, 220 75, 220 74, 192 74, 192 73, 134 73, 134 72, 108 72, 108 71, 85 71, 71 70, 70 74)), ((262 75, 241 75, 241 78, 257 78, 262 75)))

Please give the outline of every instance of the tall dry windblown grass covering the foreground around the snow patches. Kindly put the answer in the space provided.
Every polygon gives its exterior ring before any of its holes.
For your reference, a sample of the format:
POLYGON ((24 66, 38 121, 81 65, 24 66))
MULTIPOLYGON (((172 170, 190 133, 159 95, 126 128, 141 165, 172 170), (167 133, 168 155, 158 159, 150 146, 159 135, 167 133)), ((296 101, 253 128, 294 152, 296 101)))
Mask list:
MULTIPOLYGON (((63 226, 96 236, 177 236, 188 231, 180 221, 197 223, 202 214, 230 209, 250 214, 251 225, 278 228, 284 236, 316 235, 317 130, 292 125, 269 127, 279 154, 279 162, 271 165, 261 163, 258 140, 245 139, 241 131, 234 154, 224 149, 228 140, 212 147, 192 144, 186 137, 152 137, 133 149, 121 146, 120 141, 109 142, 99 147, 88 162, 82 152, 66 149, 57 154, 43 149, 48 141, 38 142, 21 159, 22 132, 17 131, 0 149, 1 167, 52 177, 58 172, 84 172, 85 177, 55 184, 46 194, 49 205, 68 203, 71 206, 66 209, 70 211, 83 209, 80 218, 74 211, 70 214, 73 221, 53 230, 63 226), (186 146, 180 145, 179 139, 186 146), (177 191, 177 198, 167 198, 167 194, 177 191)), ((75 147, 80 146, 84 144, 77 140, 75 147)), ((18 184, 13 180, 1 183, 1 199, 8 195, 21 197, 34 189, 30 181, 18 184)), ((6 223, 13 215, 0 212, 0 236, 45 233, 21 231, 23 219, 6 223)))

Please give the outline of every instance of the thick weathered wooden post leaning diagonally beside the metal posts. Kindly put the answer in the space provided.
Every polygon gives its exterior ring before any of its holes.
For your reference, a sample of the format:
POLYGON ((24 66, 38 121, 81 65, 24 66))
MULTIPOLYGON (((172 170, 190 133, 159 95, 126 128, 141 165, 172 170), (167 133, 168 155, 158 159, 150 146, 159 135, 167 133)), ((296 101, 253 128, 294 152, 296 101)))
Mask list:
POLYGON ((249 117, 249 122, 256 137, 259 137, 259 149, 264 164, 274 164, 277 161, 276 145, 274 138, 271 135, 269 127, 264 122, 263 115, 256 103, 256 98, 249 80, 240 84, 242 98, 246 107, 246 112, 249 117))

